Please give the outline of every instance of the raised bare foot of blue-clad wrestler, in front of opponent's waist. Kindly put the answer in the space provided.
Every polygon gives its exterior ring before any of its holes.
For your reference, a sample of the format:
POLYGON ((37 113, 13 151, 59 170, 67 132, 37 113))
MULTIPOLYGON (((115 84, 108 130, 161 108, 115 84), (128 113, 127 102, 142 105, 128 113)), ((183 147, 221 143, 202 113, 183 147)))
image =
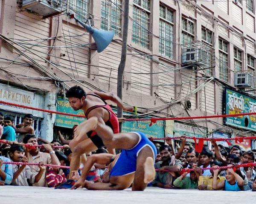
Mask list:
POLYGON ((97 127, 97 117, 91 117, 86 121, 80 123, 74 130, 74 138, 77 140, 81 139, 87 132, 95 130, 97 127))

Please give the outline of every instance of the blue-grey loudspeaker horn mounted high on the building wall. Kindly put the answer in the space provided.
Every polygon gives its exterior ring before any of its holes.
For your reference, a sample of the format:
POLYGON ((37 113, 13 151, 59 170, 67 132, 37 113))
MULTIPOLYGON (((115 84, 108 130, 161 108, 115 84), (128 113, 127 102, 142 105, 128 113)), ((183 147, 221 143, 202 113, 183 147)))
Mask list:
MULTIPOLYGON (((90 25, 87 25, 86 23, 82 22, 81 20, 78 20, 76 17, 74 17, 76 22, 80 23, 81 26, 86 28, 86 30, 92 35, 93 40, 96 43, 97 51, 102 52, 105 50, 105 48, 108 47, 108 45, 113 40, 113 37, 115 35, 115 31, 102 31, 95 28, 92 28, 90 25)), ((90 23, 90 21, 89 21, 90 23)))

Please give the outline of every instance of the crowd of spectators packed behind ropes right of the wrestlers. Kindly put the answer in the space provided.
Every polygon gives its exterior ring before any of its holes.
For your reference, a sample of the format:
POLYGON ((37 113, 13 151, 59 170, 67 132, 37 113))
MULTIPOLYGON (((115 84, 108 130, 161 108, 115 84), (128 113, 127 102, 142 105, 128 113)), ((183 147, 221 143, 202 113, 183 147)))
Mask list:
POLYGON ((186 139, 175 153, 171 140, 157 147, 157 169, 152 186, 171 189, 256 191, 255 166, 238 167, 239 164, 256 163, 256 150, 242 151, 233 145, 228 152, 221 144, 211 141, 212 148, 195 151, 186 139), (212 170, 201 168, 212 167, 212 170), (219 169, 218 167, 228 167, 219 169), (233 168, 236 167, 236 168, 233 168), (183 169, 183 171, 180 171, 183 169), (189 171, 186 171, 189 169, 189 171), (181 172, 181 174, 179 174, 181 172))

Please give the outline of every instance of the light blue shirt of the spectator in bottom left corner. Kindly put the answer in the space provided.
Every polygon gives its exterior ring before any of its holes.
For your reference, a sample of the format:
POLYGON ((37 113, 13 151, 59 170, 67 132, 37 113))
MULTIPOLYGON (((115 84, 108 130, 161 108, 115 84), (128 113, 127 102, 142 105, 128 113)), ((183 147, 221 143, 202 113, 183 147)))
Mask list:
MULTIPOLYGON (((4 181, 5 184, 11 184, 12 178, 13 178, 13 170, 12 170, 12 164, 3 164, 3 162, 11 160, 0 156, 0 181, 4 181)), ((3 184, 3 182, 1 182, 3 184)))

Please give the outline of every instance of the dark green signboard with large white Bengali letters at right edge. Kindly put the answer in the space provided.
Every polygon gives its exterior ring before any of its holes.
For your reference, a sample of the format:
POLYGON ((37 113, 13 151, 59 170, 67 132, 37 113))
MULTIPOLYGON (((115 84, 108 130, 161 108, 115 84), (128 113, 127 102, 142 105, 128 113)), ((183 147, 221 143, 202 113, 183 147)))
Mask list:
MULTIPOLYGON (((229 89, 225 90, 224 114, 253 113, 256 112, 256 99, 239 94, 229 89)), ((256 115, 236 116, 224 118, 224 123, 256 131, 256 115)))

